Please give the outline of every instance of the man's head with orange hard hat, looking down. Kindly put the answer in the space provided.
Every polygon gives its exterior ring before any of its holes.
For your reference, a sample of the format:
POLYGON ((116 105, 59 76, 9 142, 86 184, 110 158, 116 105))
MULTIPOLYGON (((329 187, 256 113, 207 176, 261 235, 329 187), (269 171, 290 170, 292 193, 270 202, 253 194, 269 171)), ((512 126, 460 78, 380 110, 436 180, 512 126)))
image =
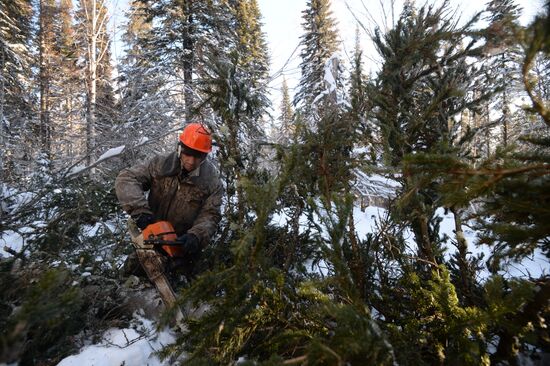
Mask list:
POLYGON ((212 135, 200 123, 190 123, 183 129, 178 142, 178 155, 182 167, 195 170, 212 151, 212 135))

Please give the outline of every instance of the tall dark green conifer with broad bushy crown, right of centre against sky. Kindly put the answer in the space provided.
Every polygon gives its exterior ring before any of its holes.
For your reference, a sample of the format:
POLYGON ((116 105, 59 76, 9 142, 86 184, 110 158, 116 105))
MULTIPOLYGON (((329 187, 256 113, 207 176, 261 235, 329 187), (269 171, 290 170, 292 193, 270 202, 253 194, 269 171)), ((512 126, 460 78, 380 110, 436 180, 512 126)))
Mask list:
MULTIPOLYGON (((394 29, 385 35, 376 32, 375 44, 384 63, 373 93, 373 117, 390 166, 400 167, 409 154, 456 153, 453 149, 459 146, 453 145, 464 136, 457 134, 453 117, 466 108, 479 108, 492 93, 485 70, 467 62, 480 53, 477 40, 464 36, 477 17, 458 28, 446 15, 447 7, 445 2, 417 10, 409 4, 394 29)), ((436 266, 442 259, 434 217, 436 182, 418 190, 422 179, 408 172, 403 175, 398 207, 404 215, 399 217, 410 223, 419 257, 436 266)))

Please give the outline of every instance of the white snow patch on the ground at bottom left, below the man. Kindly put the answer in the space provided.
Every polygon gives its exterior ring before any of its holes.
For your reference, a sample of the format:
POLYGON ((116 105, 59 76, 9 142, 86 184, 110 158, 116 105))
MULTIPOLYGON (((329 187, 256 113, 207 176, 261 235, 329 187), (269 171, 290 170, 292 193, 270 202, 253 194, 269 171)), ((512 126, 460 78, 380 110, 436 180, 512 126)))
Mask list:
POLYGON ((155 331, 151 320, 136 315, 140 323, 139 333, 136 329, 112 328, 103 334, 102 341, 84 347, 79 354, 66 357, 58 366, 161 366, 170 362, 161 361, 156 352, 176 341, 174 332, 164 329, 155 331))

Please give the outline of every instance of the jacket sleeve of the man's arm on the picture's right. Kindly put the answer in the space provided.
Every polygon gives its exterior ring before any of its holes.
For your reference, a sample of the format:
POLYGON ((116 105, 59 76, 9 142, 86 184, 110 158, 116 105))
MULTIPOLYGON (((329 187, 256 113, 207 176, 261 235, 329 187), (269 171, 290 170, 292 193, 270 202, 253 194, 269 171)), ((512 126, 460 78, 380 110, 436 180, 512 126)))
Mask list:
POLYGON ((199 215, 194 221, 193 226, 187 231, 188 233, 194 234, 199 239, 203 248, 210 243, 210 239, 216 232, 218 223, 221 220, 222 195, 223 187, 218 179, 212 193, 206 199, 199 215))

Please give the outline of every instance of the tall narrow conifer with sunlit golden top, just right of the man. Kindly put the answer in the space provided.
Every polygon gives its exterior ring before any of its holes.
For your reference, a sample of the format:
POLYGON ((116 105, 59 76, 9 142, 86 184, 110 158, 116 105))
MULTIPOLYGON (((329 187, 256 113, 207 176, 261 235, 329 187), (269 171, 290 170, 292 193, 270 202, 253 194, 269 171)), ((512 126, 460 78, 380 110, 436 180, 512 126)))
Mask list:
POLYGON ((219 116, 217 127, 224 131, 219 141, 222 175, 227 180, 227 214, 243 224, 248 210, 238 181, 257 170, 257 141, 265 137, 260 122, 269 106, 269 57, 257 2, 229 1, 227 5, 232 15, 228 24, 235 32, 226 34, 226 49, 209 59, 208 76, 199 83, 207 98, 202 105, 219 116))

